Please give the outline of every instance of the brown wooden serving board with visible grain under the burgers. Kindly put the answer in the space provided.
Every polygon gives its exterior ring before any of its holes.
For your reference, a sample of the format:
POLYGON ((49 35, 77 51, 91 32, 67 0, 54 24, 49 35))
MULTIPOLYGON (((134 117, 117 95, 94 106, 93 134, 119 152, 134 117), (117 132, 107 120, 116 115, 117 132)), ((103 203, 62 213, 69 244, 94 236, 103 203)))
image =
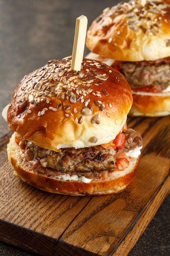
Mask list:
POLYGON ((41 256, 124 255, 170 193, 170 116, 129 117, 143 137, 135 179, 121 193, 57 195, 13 176, 0 140, 0 240, 41 256))

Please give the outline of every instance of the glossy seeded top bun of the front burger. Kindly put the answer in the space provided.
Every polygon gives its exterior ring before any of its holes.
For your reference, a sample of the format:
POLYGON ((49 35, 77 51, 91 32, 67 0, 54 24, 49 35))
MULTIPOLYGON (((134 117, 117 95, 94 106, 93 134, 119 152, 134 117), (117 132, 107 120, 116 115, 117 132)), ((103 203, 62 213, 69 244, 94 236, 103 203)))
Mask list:
POLYGON ((83 60, 77 73, 71 70, 71 58, 64 58, 24 76, 7 122, 39 147, 84 148, 115 139, 131 106, 131 89, 122 74, 90 59, 83 60))

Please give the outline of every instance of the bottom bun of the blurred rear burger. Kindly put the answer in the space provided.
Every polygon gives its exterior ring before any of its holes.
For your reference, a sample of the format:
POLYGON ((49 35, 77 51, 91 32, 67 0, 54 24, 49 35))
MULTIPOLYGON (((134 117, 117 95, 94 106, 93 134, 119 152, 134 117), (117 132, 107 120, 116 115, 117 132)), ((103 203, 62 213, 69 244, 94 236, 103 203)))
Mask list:
POLYGON ((162 117, 170 115, 170 92, 133 92, 132 108, 128 115, 162 117))

